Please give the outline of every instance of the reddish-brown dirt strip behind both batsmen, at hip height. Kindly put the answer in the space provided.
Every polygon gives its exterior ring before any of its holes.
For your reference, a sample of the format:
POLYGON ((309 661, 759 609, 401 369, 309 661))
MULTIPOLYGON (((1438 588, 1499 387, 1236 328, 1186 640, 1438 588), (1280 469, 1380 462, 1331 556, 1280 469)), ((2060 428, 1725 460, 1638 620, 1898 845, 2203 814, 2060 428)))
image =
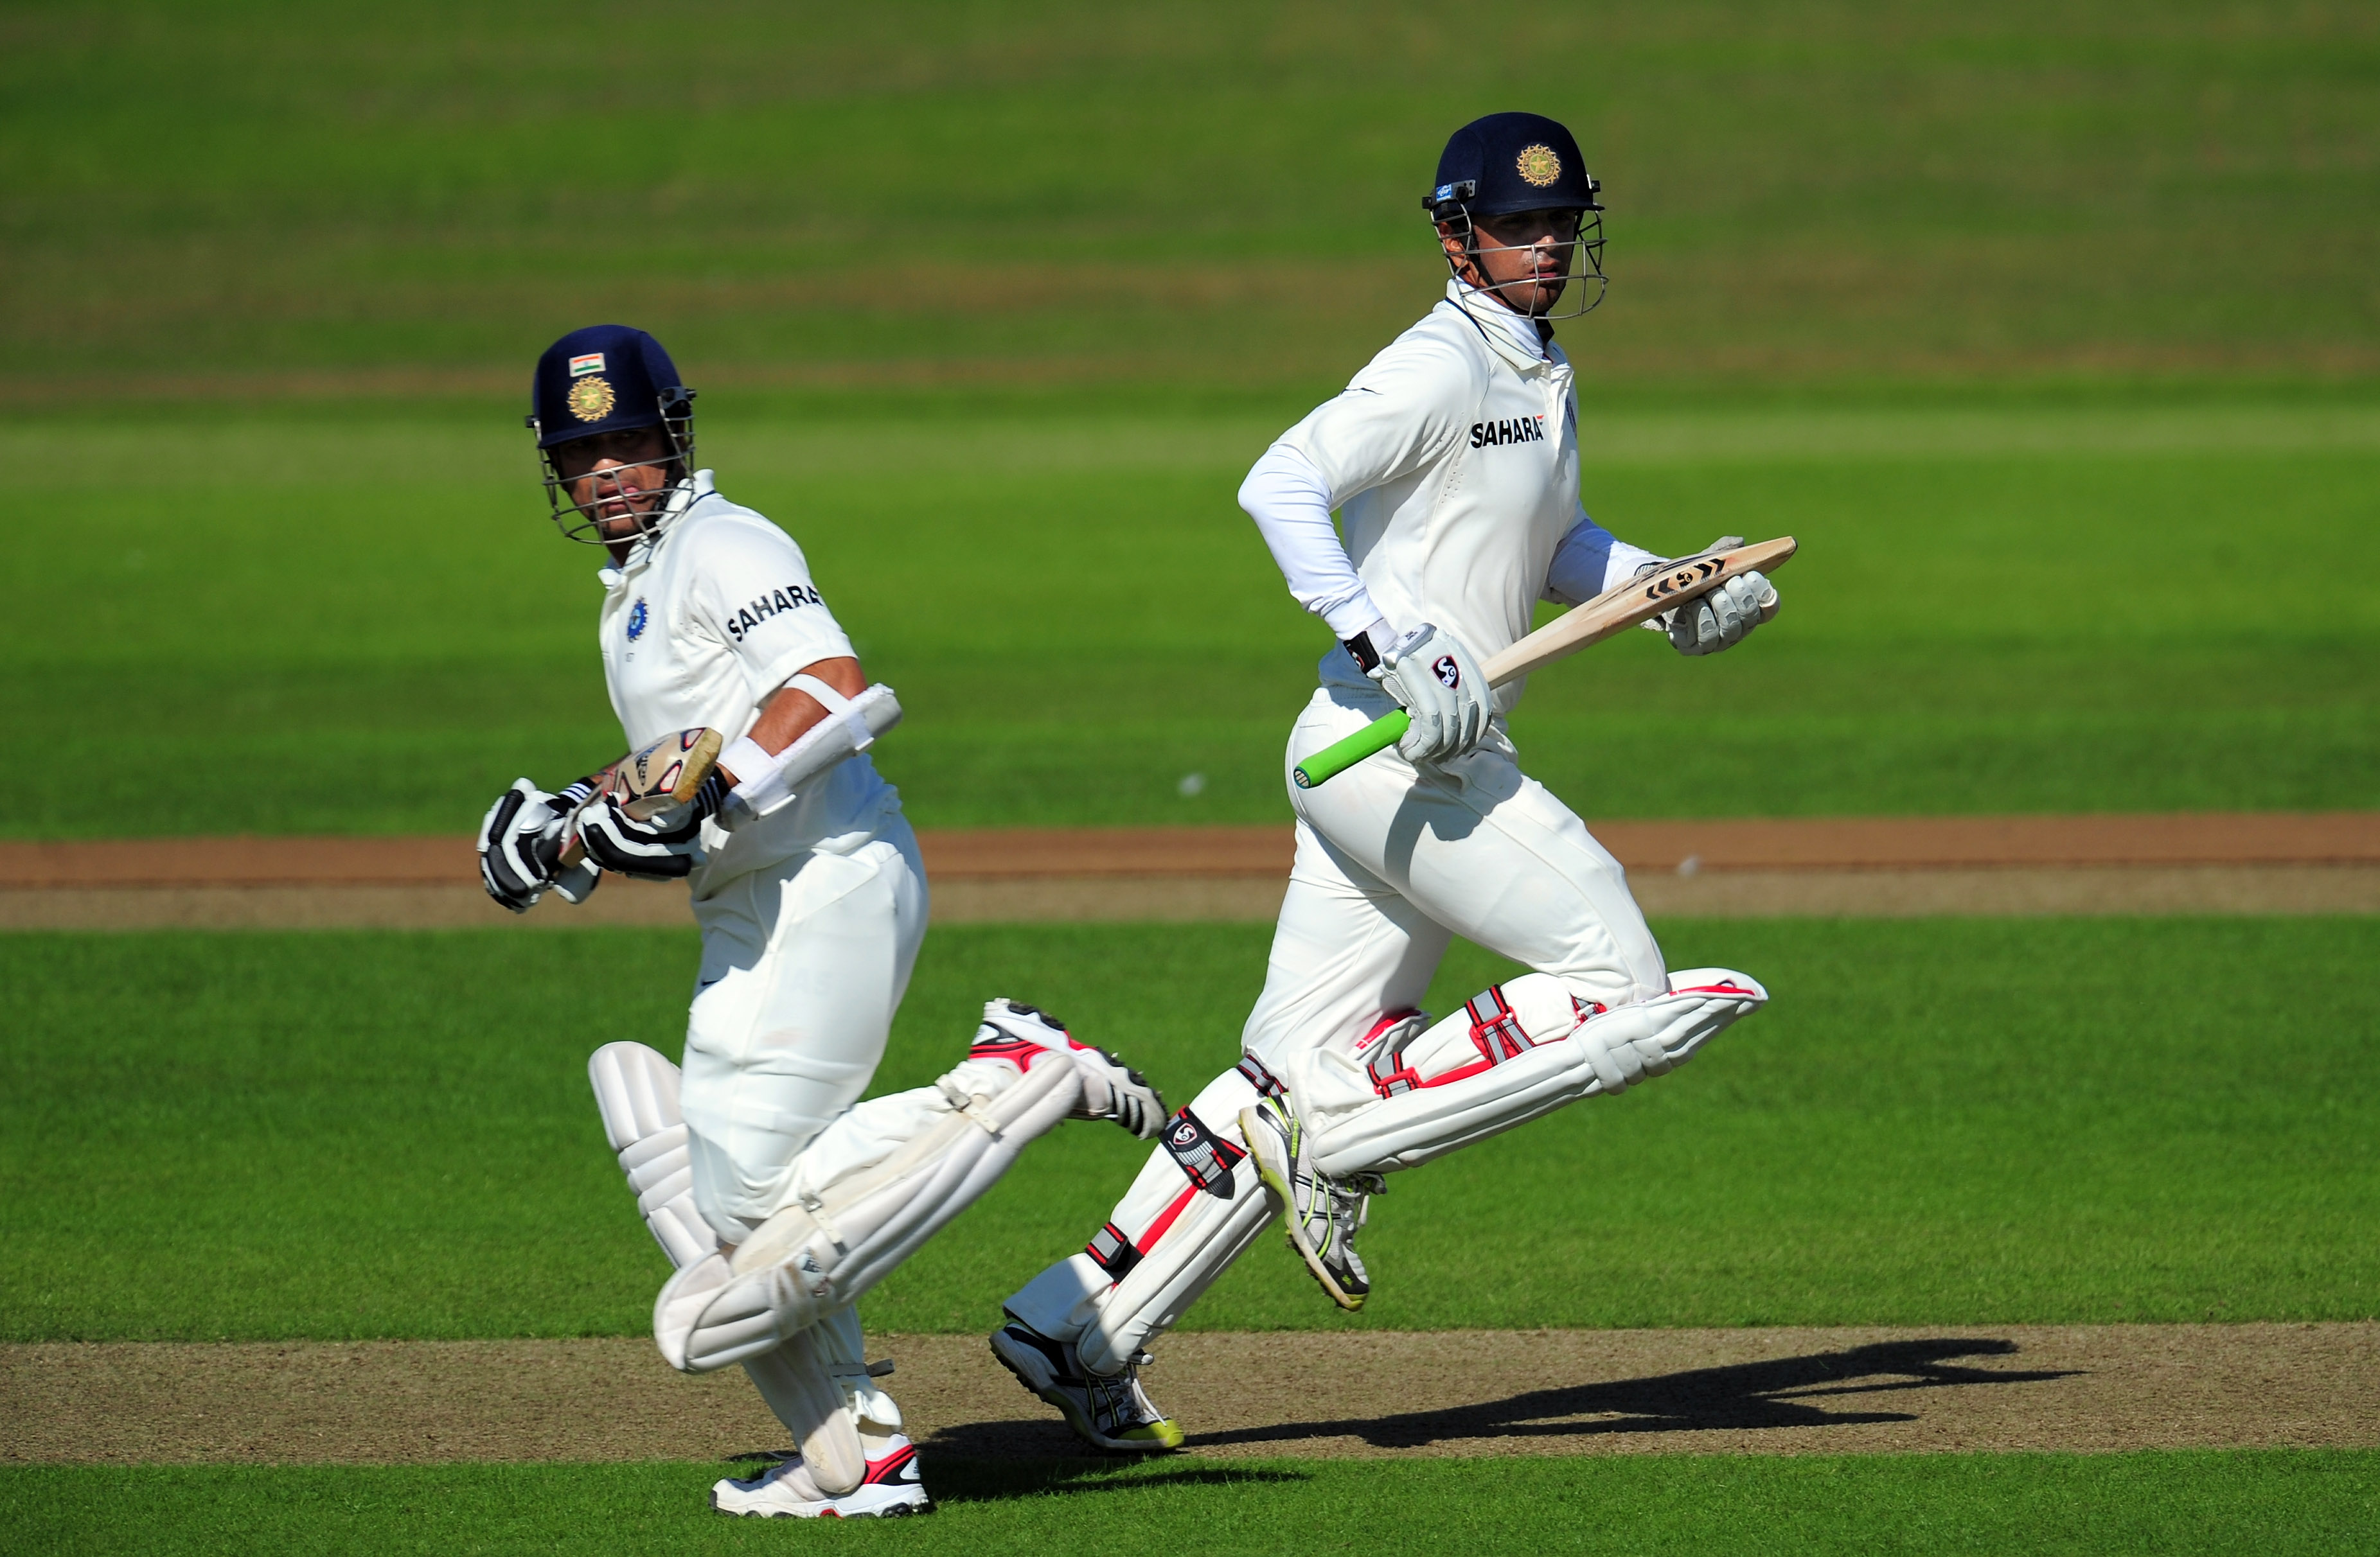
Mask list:
MULTIPOLYGON (((1595 821, 1654 917, 2375 914, 2380 812, 1595 821)), ((1269 921, 1288 826, 919 836, 940 924, 1269 921)), ((685 888, 605 881, 507 914, 464 838, 0 843, 7 928, 688 924, 685 888)))

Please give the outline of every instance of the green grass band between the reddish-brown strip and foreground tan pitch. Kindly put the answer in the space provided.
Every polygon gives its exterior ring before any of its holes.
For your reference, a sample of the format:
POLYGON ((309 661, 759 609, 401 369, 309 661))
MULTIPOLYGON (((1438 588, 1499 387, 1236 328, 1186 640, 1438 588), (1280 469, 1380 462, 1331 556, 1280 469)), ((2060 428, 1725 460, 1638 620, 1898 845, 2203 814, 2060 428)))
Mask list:
MULTIPOLYGON (((881 1086, 947 1069, 1009 990, 1185 1098, 1238 1052, 1264 940, 938 928, 881 1086)), ((1266 1240, 1192 1321, 2380 1314, 2373 921, 1685 921, 1664 948, 1761 976, 1773 1007, 1676 1076, 1399 1174, 1361 1317, 1266 1240)), ((609 1038, 676 1052, 693 952, 650 931, 0 938, 0 1338, 643 1333, 666 1269, 583 1064, 609 1038)), ((1433 1009, 1495 976, 1459 952, 1433 1009)), ((985 1328, 1145 1150, 1107 1126, 1035 1143, 869 1324, 985 1328)))

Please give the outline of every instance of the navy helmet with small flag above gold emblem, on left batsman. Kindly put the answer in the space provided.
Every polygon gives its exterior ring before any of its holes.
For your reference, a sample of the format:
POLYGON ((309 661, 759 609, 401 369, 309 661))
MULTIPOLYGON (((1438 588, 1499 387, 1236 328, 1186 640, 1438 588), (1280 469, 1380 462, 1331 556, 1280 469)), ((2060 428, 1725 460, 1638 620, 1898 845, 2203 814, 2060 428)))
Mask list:
MULTIPOLYGON (((595 514, 571 502, 552 452, 578 438, 657 426, 669 440, 671 483, 685 486, 695 469, 695 390, 678 379, 678 364, 662 343, 626 324, 590 324, 545 348, 528 386, 528 431, 538 436, 545 495, 555 524, 571 540, 605 543, 595 514)), ((652 512, 659 529, 683 507, 671 500, 652 512)))

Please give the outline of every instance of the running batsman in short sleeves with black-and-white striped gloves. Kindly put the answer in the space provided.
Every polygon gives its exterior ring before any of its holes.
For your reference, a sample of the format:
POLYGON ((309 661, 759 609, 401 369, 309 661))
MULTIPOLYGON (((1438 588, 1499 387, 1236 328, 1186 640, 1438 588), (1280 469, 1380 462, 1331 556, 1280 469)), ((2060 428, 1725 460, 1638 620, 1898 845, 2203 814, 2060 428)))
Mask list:
POLYGON ((607 1043, 588 1074, 654 1240, 654 1302, 685 1371, 740 1362, 800 1443, 721 1481, 731 1514, 931 1507, 900 1407, 876 1386, 854 1302, 1059 1119, 1157 1133, 1157 1093, 1035 1007, 992 1000, 940 1081, 862 1102, 926 933, 916 836, 866 748, 897 719, 809 576, 802 548, 693 464, 693 393, 624 326, 538 364, 533 426, 564 533, 597 540, 600 643, 631 750, 709 726, 721 774, 681 814, 631 819, 574 786, 516 783, 481 828, 514 909, 578 900, 600 869, 688 878, 702 967, 683 1074, 607 1043), (588 386, 595 388, 588 388, 588 386), (588 864, 562 867, 569 838, 588 864))

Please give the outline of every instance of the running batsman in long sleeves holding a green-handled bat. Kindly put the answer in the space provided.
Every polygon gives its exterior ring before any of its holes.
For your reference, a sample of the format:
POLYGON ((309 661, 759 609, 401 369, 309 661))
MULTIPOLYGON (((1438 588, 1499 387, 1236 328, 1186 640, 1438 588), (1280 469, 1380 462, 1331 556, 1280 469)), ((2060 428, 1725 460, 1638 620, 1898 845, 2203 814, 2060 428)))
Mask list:
MULTIPOLYGON (((1583 171, 1561 198, 1568 169, 1549 119, 1459 131, 1430 202, 1445 300, 1240 488, 1290 593, 1342 640, 1285 769, 1399 705, 1414 724, 1397 750, 1290 786, 1297 855, 1245 1059, 1173 1117, 1090 1245, 1007 1300, 992 1352, 1100 1447, 1180 1443, 1138 1364, 1276 1214, 1359 1307, 1354 1233, 1380 1174, 1661 1076, 1766 1000, 1745 974, 1664 967, 1621 864, 1521 771, 1504 714, 1523 686, 1490 695, 1478 671, 1537 600, 1661 562, 1578 498, 1571 364, 1545 319, 1599 207, 1583 171), (1502 200, 1497 171, 1518 176, 1502 200), (1454 936, 1533 971, 1433 1024, 1416 1005, 1454 936)), ((1773 612, 1747 574, 1656 626, 1699 655, 1773 612)))

